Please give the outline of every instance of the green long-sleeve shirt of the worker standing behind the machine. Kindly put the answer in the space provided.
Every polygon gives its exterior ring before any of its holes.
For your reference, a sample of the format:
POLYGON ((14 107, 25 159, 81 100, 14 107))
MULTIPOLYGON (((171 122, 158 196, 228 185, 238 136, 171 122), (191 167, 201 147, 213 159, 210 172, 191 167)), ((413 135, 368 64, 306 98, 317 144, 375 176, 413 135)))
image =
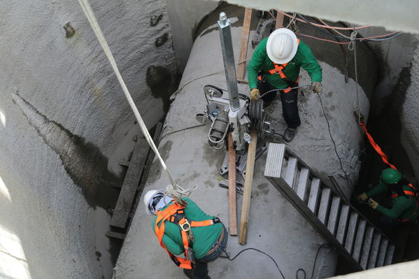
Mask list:
MULTIPOLYGON (((250 60, 248 66, 248 82, 250 89, 256 88, 257 73, 259 73, 259 71, 269 71, 275 68, 274 62, 269 59, 267 54, 267 41, 268 38, 264 38, 259 45, 257 45, 255 52, 253 52, 252 60, 250 60)), ((300 67, 308 72, 311 77, 311 82, 318 81, 320 83, 322 81, 322 68, 314 58, 313 52, 308 48, 308 45, 301 40, 299 41, 296 55, 288 62, 287 66, 285 66, 283 73, 289 80, 295 81, 299 76, 300 67)), ((265 77, 267 78, 267 82, 276 88, 288 87, 287 83, 277 74, 265 75, 265 77)))

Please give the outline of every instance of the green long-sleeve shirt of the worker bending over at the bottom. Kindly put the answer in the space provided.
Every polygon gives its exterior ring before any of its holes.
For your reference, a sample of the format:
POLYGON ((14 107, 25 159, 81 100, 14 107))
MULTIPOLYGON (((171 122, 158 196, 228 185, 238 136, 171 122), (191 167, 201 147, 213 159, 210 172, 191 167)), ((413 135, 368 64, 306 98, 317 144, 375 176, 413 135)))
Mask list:
MULTIPOLYGON (((205 221, 215 218, 214 216, 207 215, 201 210, 191 199, 184 198, 187 201, 185 207, 185 215, 190 220, 194 221, 205 221)), ((171 203, 169 203, 170 205, 171 203)), ((168 206, 169 206, 168 205, 168 206)), ((164 210, 167 206, 162 208, 164 210)), ((152 230, 155 230, 155 222, 157 216, 152 220, 152 230)), ((159 224, 160 225, 160 224, 159 224)), ((213 224, 206 227, 193 227, 192 234, 194 235, 194 256, 196 259, 204 257, 208 250, 215 244, 215 241, 220 238, 222 231, 222 223, 213 224)), ((171 222, 165 222, 163 243, 167 250, 173 255, 180 255, 185 252, 183 248, 182 236, 180 234, 180 228, 177 224, 171 222)))

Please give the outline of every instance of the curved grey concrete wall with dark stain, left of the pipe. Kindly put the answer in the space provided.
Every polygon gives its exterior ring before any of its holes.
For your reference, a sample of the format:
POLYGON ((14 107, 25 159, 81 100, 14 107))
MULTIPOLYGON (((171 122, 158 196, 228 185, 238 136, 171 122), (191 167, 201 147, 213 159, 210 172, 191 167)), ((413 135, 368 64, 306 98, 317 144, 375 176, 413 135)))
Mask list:
MULTIPOLYGON (((90 2, 152 127, 176 74, 164 2, 90 2)), ((0 278, 110 278, 106 208, 138 125, 77 1, 0 10, 0 278)))

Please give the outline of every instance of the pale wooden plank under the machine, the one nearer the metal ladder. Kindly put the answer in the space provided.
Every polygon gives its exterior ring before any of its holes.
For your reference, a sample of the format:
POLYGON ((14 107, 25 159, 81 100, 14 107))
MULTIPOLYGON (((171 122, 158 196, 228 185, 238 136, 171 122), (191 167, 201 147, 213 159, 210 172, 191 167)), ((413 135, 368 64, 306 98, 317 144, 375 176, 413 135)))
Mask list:
POLYGON ((248 236, 248 222, 250 212, 250 194, 252 194, 252 183, 253 183, 253 169, 255 168, 255 155, 256 155, 256 144, 257 144, 257 131, 250 131, 250 137, 252 141, 248 148, 248 160, 246 164, 246 178, 244 180, 243 190, 243 204, 241 206, 241 221, 240 221, 240 235, 239 243, 241 245, 246 244, 248 236))

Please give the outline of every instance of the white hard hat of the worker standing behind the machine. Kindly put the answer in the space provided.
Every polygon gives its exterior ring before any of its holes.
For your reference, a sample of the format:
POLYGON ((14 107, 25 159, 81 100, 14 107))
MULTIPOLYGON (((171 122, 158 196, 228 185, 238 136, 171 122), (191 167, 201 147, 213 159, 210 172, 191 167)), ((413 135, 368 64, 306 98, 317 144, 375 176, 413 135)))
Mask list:
POLYGON ((269 35, 267 42, 268 57, 277 64, 290 62, 297 53, 297 48, 297 36, 290 29, 276 29, 269 35))

